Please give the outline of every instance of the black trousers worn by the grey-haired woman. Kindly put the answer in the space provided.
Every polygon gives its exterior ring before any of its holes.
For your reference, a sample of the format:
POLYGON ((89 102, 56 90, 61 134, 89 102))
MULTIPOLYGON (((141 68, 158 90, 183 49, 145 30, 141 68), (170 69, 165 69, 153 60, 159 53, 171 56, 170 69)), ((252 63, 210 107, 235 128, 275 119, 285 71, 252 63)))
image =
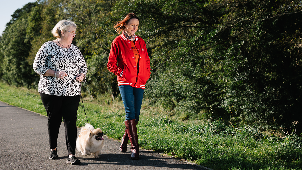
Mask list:
POLYGON ((63 118, 68 155, 75 155, 76 115, 81 96, 54 96, 45 93, 40 93, 40 96, 48 116, 47 127, 50 149, 55 149, 58 146, 57 140, 63 118))

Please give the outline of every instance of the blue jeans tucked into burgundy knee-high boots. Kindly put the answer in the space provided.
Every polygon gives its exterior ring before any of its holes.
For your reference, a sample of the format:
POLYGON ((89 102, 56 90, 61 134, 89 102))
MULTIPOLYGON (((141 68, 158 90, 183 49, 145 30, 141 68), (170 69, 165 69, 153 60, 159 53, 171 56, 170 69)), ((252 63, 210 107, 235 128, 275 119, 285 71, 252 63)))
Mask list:
POLYGON ((124 103, 126 120, 135 119, 137 122, 140 119, 140 107, 143 102, 144 89, 129 85, 120 85, 118 88, 124 103))

